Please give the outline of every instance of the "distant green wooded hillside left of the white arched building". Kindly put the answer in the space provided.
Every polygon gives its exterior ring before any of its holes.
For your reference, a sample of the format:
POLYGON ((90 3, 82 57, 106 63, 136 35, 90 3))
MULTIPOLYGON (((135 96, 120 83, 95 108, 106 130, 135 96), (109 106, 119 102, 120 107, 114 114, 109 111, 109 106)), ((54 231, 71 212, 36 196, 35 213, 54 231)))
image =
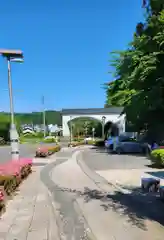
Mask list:
MULTIPOLYGON (((10 113, 0 112, 0 122, 9 121, 10 113)), ((43 123, 43 113, 42 112, 32 112, 32 113, 15 113, 15 120, 19 124, 33 123, 42 124, 43 123)), ((57 124, 62 125, 62 116, 59 111, 46 111, 46 124, 57 124)))

